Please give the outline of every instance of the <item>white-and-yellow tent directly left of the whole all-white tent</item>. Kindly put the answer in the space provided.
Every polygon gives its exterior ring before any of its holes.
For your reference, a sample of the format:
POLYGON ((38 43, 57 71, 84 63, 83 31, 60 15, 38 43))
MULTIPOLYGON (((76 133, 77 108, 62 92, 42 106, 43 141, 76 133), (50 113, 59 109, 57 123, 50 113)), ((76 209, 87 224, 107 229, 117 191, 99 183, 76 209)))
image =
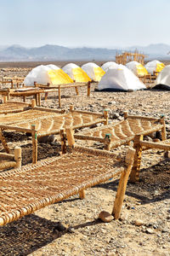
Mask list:
POLYGON ((105 71, 93 62, 88 62, 82 65, 82 70, 88 74, 88 77, 95 82, 99 82, 105 74, 105 71))

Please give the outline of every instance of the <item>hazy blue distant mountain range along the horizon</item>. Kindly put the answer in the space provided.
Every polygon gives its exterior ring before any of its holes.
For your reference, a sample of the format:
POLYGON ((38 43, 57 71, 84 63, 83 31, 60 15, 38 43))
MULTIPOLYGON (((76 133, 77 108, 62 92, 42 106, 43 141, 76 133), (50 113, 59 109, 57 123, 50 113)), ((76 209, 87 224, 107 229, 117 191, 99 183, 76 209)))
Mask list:
POLYGON ((37 48, 25 48, 20 45, 0 46, 0 61, 114 61, 116 53, 139 50, 148 55, 147 59, 170 60, 170 45, 150 44, 124 49, 106 48, 68 48, 59 45, 43 45, 37 48))

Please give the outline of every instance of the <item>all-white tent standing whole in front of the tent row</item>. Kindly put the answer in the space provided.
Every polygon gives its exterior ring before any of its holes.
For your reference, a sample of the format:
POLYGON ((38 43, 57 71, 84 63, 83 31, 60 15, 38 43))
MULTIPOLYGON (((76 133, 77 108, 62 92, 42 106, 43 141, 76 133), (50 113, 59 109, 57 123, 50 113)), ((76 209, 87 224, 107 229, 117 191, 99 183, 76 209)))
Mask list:
POLYGON ((110 68, 98 85, 99 90, 142 90, 145 85, 135 76, 132 71, 123 65, 110 68))

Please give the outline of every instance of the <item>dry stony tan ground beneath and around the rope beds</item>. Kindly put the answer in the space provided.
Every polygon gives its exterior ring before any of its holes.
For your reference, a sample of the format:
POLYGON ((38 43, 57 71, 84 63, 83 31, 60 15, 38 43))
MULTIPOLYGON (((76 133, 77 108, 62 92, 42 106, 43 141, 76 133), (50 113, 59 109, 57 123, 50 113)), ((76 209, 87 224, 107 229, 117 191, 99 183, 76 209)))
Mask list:
MULTIPOLYGON (((3 75, 23 76, 28 72, 10 68, 3 71, 3 75)), ((75 96, 74 89, 63 90, 63 108, 69 108, 72 103, 77 109, 94 112, 107 108, 112 122, 122 119, 125 110, 142 115, 165 114, 167 137, 170 137, 170 92, 98 92, 94 91, 95 87, 97 84, 92 85, 89 98, 85 88, 81 88, 80 96, 75 96)), ((42 106, 58 108, 57 97, 50 94, 46 102, 42 101, 42 106)), ((6 133, 6 136, 10 148, 22 147, 23 165, 30 163, 30 138, 19 133, 6 133)), ((55 138, 55 143, 38 144, 39 160, 59 154, 58 137, 55 138)), ((87 144, 103 147, 99 143, 87 144)), ((114 150, 125 154, 127 146, 114 150)), ((110 180, 88 189, 84 200, 78 199, 78 195, 72 196, 1 227, 0 255, 170 255, 169 167, 169 159, 164 159, 163 151, 144 151, 140 181, 127 185, 121 219, 106 224, 98 219, 102 210, 112 211, 117 182, 110 180), (141 225, 136 225, 136 221, 141 225)))

